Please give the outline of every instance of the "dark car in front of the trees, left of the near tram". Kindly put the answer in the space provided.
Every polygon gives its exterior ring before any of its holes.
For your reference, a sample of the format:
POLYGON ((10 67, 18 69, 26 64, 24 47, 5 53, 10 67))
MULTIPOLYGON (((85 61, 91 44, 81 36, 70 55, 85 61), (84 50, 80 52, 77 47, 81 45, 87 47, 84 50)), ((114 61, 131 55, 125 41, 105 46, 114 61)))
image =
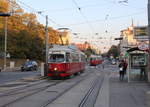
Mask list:
POLYGON ((22 66, 21 66, 21 71, 33 71, 37 70, 38 64, 36 61, 26 61, 22 66))

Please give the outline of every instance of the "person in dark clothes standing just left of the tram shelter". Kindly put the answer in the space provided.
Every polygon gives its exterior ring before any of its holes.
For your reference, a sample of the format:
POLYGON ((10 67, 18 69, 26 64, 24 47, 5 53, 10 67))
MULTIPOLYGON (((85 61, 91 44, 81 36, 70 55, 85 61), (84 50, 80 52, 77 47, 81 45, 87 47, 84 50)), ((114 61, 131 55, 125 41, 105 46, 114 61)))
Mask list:
POLYGON ((121 60, 119 63, 119 79, 122 81, 124 79, 124 75, 126 73, 127 64, 124 60, 121 60))

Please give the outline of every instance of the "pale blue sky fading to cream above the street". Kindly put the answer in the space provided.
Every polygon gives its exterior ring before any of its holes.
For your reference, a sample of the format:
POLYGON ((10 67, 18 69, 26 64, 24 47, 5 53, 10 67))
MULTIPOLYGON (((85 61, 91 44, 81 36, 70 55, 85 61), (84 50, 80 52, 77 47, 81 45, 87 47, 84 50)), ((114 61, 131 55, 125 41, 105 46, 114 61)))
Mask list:
POLYGON ((54 29, 69 28, 72 42, 85 41, 107 51, 117 45, 114 38, 134 22, 135 26, 148 23, 148 0, 16 0, 25 12, 41 11, 38 21, 54 29), (127 2, 123 2, 127 1, 127 2), (75 34, 76 35, 73 35, 75 34))

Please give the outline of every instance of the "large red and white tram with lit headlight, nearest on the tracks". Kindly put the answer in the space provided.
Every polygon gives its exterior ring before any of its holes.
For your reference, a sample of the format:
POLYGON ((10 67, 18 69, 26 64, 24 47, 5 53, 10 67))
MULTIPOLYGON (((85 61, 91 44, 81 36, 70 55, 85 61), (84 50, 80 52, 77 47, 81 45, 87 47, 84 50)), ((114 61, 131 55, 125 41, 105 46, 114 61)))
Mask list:
POLYGON ((49 50, 48 76, 67 77, 83 72, 85 55, 73 46, 54 46, 49 50))

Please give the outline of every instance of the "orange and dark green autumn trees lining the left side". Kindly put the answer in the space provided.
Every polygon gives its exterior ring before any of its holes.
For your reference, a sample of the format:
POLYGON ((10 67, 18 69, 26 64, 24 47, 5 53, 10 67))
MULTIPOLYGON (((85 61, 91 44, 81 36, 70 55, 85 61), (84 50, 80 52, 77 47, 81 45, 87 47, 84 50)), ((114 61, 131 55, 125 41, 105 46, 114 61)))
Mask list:
MULTIPOLYGON (((11 12, 8 17, 7 53, 11 58, 44 59, 45 26, 33 13, 25 13, 16 3, 0 0, 0 12, 11 12)), ((0 52, 4 52, 5 17, 0 16, 0 52)), ((49 27, 49 44, 58 44, 59 34, 49 27)))

